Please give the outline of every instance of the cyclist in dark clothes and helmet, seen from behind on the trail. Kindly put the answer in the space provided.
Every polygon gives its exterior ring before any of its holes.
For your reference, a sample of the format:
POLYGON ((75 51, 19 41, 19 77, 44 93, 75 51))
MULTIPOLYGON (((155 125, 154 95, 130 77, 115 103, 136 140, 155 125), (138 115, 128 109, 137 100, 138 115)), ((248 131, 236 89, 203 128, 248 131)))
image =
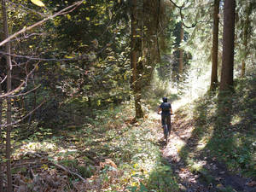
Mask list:
POLYGON ((163 102, 160 104, 158 113, 161 114, 162 127, 164 127, 164 125, 167 124, 168 132, 170 134, 171 133, 171 115, 173 113, 172 113, 172 105, 170 102, 168 102, 168 99, 166 97, 163 97, 163 102))

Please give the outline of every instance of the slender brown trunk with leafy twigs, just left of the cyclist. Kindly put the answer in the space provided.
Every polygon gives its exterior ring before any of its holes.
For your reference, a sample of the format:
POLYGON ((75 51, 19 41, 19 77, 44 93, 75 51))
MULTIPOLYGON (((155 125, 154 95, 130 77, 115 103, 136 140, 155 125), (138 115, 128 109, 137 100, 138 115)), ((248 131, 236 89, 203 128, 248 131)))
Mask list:
MULTIPOLYGON (((141 37, 137 37, 137 0, 131 2, 131 88, 133 90, 136 119, 143 118, 143 108, 141 106, 141 84, 138 79, 137 55, 142 51, 141 37), (140 44, 139 44, 140 43, 140 44)), ((142 62, 142 61, 139 61, 142 62)))

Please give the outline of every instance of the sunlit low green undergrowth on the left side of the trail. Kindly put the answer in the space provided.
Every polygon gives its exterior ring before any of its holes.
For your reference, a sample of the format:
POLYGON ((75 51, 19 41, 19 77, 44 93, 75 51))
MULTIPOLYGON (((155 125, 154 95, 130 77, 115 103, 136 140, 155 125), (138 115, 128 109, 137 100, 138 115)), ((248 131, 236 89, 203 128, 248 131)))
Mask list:
MULTIPOLYGON (((93 119, 87 117, 84 125, 63 127, 53 135, 44 134, 49 130, 42 128, 39 138, 34 135, 20 142, 15 160, 47 154, 44 159, 87 179, 82 183, 78 177, 70 177, 67 191, 70 187, 77 191, 178 191, 171 167, 160 154, 157 122, 146 118, 134 123, 133 115, 127 102, 99 111, 93 119)), ((45 162, 36 172, 53 170, 55 166, 45 162)))

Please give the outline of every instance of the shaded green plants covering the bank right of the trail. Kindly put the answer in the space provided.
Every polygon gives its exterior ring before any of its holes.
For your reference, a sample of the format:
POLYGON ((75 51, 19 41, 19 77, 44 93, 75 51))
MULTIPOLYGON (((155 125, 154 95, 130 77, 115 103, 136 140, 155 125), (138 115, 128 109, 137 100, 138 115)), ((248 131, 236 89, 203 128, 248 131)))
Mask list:
POLYGON ((255 177, 255 76, 236 81, 236 93, 231 96, 206 96, 195 108, 195 131, 198 137, 211 135, 205 151, 223 160, 230 170, 255 177), (213 128, 213 130, 212 130, 213 128))

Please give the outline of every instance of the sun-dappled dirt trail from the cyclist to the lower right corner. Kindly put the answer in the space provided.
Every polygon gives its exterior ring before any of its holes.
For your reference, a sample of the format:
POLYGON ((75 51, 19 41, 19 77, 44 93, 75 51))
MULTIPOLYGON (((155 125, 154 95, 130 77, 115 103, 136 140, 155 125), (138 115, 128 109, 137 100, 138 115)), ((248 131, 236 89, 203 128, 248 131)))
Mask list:
MULTIPOLYGON (((253 192, 256 188, 250 187, 250 181, 229 172, 217 158, 202 155, 196 149, 196 138, 192 136, 193 121, 186 121, 183 117, 172 118, 172 133, 169 142, 163 141, 160 135, 160 145, 163 157, 170 163, 173 174, 176 175, 179 189, 187 192, 253 192), (189 151, 189 153, 188 153, 189 151)), ((152 115, 159 122, 160 115, 152 115)), ((208 151, 210 153, 210 151, 208 151)))

